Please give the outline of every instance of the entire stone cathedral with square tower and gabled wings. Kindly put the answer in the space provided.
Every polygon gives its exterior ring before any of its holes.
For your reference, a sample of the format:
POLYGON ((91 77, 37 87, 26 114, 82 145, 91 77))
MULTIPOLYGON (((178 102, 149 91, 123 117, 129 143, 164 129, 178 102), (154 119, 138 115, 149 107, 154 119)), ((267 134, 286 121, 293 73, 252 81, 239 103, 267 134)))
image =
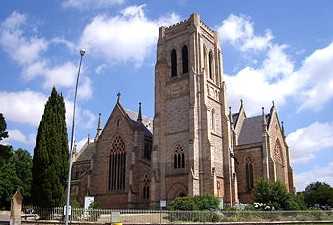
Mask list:
POLYGON ((155 116, 125 109, 120 95, 104 126, 75 152, 72 195, 103 208, 157 207, 161 200, 210 194, 228 205, 250 203, 257 179, 292 192, 283 122, 274 102, 248 117, 228 107, 216 31, 198 14, 160 27, 155 116))

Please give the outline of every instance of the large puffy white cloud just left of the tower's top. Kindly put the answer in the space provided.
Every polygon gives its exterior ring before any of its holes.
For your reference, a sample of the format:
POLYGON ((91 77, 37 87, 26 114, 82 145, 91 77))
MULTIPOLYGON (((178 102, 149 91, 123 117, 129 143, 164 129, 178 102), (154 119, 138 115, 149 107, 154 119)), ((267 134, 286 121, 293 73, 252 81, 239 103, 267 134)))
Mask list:
POLYGON ((108 62, 134 62, 138 66, 153 52, 158 27, 178 19, 175 14, 170 14, 150 20, 145 16, 144 5, 130 6, 117 16, 94 17, 84 28, 80 46, 108 62))

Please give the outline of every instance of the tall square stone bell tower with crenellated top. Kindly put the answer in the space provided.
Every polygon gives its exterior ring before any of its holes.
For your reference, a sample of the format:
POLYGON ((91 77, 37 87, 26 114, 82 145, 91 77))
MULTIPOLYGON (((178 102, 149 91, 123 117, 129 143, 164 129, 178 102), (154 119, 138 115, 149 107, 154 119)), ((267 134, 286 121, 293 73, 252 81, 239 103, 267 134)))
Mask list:
POLYGON ((237 201, 221 58, 217 32, 198 14, 159 29, 152 202, 204 194, 237 201))

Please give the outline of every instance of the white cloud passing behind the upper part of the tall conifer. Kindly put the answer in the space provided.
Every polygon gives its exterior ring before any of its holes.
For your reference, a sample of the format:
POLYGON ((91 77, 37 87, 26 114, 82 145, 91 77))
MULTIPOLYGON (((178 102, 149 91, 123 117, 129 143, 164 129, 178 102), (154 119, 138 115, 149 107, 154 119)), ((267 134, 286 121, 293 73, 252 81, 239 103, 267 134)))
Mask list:
MULTIPOLYGON (((44 111, 47 96, 31 90, 6 92, 0 91, 0 112, 8 121, 38 126, 44 111)), ((73 115, 73 103, 65 99, 66 121, 69 128, 73 115)), ((82 128, 92 128, 97 117, 91 111, 78 108, 77 124, 82 128)))

